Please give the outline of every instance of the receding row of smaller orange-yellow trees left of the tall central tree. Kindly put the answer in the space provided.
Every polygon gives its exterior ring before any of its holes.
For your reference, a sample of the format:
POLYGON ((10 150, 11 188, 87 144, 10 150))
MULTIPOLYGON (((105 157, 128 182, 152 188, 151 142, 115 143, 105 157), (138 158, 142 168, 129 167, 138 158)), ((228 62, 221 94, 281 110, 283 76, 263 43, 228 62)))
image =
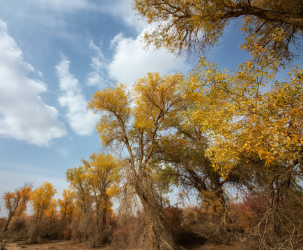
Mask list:
POLYGON ((112 215, 110 198, 118 192, 120 165, 103 153, 93 153, 90 160, 66 172, 70 190, 63 190, 62 199, 54 199, 56 189, 45 182, 33 190, 25 184, 3 195, 7 219, 1 220, 1 238, 28 239, 39 237, 90 240, 91 245, 108 242, 107 215, 112 215), (31 203, 32 215, 26 214, 31 203))

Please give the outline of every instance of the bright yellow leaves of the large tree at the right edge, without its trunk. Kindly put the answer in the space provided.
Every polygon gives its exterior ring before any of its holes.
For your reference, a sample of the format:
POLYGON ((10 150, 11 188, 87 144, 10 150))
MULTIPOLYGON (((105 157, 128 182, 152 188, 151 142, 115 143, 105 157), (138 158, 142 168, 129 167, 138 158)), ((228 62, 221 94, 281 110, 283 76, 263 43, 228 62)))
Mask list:
POLYGON ((190 117, 210 135, 208 156, 222 176, 240 160, 262 160, 270 167, 300 158, 302 71, 293 69, 283 83, 272 81, 275 72, 275 61, 266 57, 231 73, 201 60, 182 86, 195 105, 190 117))

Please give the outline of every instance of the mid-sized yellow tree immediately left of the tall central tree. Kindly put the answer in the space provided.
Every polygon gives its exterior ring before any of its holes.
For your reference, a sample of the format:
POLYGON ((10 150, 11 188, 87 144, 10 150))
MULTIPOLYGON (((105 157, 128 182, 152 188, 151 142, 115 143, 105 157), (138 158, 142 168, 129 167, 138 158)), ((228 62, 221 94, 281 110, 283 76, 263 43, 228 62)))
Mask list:
POLYGON ((108 241, 106 219, 113 206, 110 198, 119 192, 121 163, 104 153, 93 153, 90 160, 82 160, 82 163, 80 167, 68 169, 66 176, 90 222, 88 236, 95 247, 108 241))

